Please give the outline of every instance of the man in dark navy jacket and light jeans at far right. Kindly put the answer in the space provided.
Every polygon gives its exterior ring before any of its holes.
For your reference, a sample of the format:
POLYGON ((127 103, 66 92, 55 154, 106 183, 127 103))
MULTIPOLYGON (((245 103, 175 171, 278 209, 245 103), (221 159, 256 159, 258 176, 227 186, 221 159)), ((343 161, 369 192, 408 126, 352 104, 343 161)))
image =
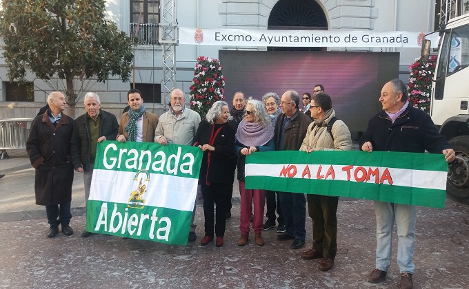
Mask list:
MULTIPOLYGON (((406 85, 398 78, 381 89, 379 101, 383 111, 368 122, 359 144, 363 151, 407 151, 443 153, 447 162, 455 160, 446 138, 441 136, 430 116, 409 105, 406 85)), ((397 265, 401 272, 399 288, 412 288, 415 271, 412 257, 415 247, 415 206, 375 201, 376 268, 368 282, 378 283, 386 277, 391 263, 392 226, 397 226, 397 265)))

